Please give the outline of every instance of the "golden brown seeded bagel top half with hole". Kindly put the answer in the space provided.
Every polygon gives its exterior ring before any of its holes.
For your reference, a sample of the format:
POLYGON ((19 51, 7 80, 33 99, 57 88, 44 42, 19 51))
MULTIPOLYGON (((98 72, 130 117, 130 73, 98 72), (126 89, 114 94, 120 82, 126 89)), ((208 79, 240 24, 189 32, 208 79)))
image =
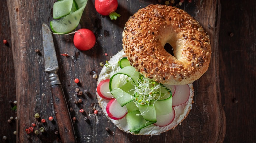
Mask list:
POLYGON ((205 30, 187 12, 166 5, 149 5, 125 24, 123 48, 130 64, 145 77, 182 85, 208 69, 211 45, 205 30), (164 45, 173 47, 174 56, 164 45))

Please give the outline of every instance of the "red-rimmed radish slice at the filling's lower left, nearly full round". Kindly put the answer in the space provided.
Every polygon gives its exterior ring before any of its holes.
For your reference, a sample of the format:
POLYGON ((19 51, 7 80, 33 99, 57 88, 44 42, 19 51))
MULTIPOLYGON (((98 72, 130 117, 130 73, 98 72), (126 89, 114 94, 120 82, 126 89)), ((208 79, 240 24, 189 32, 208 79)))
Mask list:
POLYGON ((121 107, 121 105, 117 102, 115 98, 111 99, 107 104, 107 113, 108 116, 113 120, 122 119, 127 114, 127 109, 125 106, 121 107))

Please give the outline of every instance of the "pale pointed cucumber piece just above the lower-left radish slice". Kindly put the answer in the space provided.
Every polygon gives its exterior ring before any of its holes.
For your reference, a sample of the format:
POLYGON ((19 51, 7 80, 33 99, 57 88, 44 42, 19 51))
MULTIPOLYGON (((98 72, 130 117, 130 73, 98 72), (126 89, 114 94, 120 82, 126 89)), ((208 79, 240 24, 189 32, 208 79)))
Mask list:
POLYGON ((135 97, 123 91, 120 88, 115 88, 111 91, 111 94, 116 98, 117 102, 123 107, 127 103, 135 100, 135 97))

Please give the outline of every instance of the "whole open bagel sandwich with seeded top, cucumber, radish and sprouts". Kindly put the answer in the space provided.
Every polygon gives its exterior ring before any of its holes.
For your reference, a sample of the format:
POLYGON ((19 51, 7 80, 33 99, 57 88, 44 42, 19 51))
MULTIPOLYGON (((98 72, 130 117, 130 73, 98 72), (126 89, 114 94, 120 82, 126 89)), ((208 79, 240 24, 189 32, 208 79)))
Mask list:
POLYGON ((165 5, 140 9, 122 35, 123 50, 98 78, 106 117, 134 135, 159 135, 181 125, 192 108, 192 82, 209 67, 209 36, 185 11, 165 5), (166 43, 174 56, 164 50, 166 43))

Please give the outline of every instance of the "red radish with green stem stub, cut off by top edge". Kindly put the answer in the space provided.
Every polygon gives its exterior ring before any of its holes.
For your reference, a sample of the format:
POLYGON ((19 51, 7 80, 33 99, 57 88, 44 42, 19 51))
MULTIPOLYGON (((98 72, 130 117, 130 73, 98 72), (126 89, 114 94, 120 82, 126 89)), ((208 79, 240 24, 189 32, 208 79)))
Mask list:
POLYGON ((117 19, 121 15, 116 13, 118 2, 117 0, 95 0, 95 9, 101 15, 109 15, 110 19, 117 19))

